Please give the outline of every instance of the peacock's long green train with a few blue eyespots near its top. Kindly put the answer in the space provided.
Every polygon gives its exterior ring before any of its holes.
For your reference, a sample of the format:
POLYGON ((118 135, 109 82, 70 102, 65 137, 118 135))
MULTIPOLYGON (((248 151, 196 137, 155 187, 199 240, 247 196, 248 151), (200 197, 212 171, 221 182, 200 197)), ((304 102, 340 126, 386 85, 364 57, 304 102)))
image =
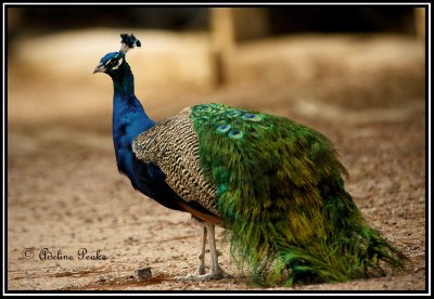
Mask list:
POLYGON ((322 134, 219 104, 192 107, 191 119, 232 257, 255 282, 343 282, 382 273, 381 260, 403 265, 345 192, 346 170, 322 134))

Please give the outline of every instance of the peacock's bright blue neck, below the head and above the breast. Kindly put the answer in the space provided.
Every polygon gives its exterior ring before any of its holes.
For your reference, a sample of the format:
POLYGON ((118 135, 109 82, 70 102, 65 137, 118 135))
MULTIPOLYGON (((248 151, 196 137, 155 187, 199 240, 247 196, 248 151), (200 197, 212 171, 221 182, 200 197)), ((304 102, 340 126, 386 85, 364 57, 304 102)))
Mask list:
POLYGON ((108 74, 113 79, 113 142, 117 168, 133 180, 132 140, 155 125, 145 114, 135 95, 135 79, 127 62, 116 73, 108 74))

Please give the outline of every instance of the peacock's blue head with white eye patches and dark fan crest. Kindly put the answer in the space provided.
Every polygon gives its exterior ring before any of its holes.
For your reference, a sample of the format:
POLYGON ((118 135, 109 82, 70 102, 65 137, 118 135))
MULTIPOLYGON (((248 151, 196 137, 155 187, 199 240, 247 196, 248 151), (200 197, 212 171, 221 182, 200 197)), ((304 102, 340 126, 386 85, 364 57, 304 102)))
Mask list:
POLYGON ((127 34, 120 35, 120 50, 118 52, 111 52, 105 54, 101 61, 100 64, 97 65, 95 69, 93 69, 93 74, 95 73, 105 73, 107 75, 115 75, 119 69, 122 68, 123 65, 126 64, 125 61, 125 54, 133 49, 136 46, 141 47, 140 40, 136 39, 136 37, 127 34))

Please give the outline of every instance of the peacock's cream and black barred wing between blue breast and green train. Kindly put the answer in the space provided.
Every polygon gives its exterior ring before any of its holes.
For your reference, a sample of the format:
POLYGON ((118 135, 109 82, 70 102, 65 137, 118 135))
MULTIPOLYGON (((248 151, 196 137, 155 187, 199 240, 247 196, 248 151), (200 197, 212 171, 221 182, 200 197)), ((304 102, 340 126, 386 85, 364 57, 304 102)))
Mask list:
MULTIPOLYGON (((139 134, 132 142, 132 152, 139 160, 158 166, 166 183, 187 203, 197 203, 213 214, 219 214, 215 185, 205 178, 199 161, 199 140, 190 120, 190 108, 139 134)), ((191 206, 183 205, 183 209, 203 218, 191 206)))

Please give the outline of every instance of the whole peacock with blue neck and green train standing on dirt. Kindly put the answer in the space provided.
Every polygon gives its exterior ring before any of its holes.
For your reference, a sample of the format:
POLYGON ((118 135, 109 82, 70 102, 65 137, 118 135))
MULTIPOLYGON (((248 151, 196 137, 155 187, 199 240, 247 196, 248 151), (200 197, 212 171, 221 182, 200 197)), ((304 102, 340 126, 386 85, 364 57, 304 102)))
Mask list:
POLYGON ((233 259, 261 284, 342 282, 383 273, 380 261, 403 265, 404 256, 368 226, 344 190, 346 170, 326 136, 221 104, 155 122, 135 95, 125 56, 135 46, 133 35, 122 35, 120 51, 103 56, 93 73, 113 79, 118 170, 136 190, 203 224, 197 273, 186 277, 227 276, 218 265, 215 225, 226 229, 233 259))

